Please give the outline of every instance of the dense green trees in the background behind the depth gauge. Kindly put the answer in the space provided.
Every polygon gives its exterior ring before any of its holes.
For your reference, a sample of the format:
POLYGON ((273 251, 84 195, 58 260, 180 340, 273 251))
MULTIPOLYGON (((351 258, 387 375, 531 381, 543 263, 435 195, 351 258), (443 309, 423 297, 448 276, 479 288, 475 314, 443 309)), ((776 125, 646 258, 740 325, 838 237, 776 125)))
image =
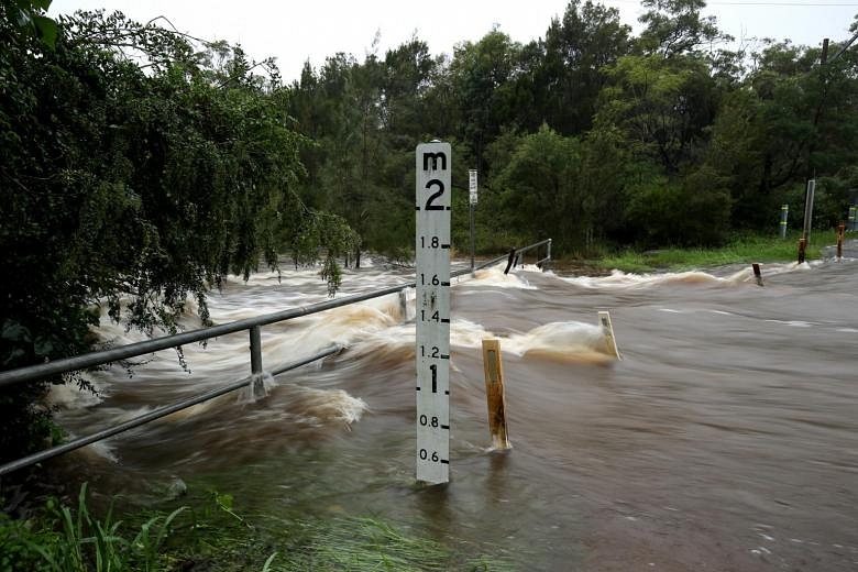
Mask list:
POLYGON ((855 55, 821 69, 817 48, 729 52, 704 8, 648 1, 634 37, 616 10, 572 0, 544 40, 520 44, 493 29, 450 57, 411 38, 385 57, 338 54, 307 67, 288 98, 316 142, 301 154, 301 197, 343 216, 362 249, 405 257, 414 147, 437 138, 454 146, 459 252, 468 168, 480 172, 483 252, 549 235, 561 253, 719 244, 732 229, 768 228, 783 202, 801 212, 814 168, 837 179, 821 183, 825 211, 845 209, 855 55))

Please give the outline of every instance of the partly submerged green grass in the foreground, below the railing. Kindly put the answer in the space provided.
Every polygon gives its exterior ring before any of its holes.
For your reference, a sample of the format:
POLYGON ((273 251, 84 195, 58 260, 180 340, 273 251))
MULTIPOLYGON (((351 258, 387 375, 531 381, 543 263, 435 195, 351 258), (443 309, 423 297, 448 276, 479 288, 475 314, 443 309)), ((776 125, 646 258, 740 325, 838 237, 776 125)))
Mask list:
POLYGON ((0 513, 0 572, 514 569, 505 559, 465 554, 375 517, 250 518, 230 495, 209 492, 193 507, 138 509, 119 520, 113 503, 102 518, 94 516, 87 497, 84 485, 76 507, 50 501, 29 520, 0 513))

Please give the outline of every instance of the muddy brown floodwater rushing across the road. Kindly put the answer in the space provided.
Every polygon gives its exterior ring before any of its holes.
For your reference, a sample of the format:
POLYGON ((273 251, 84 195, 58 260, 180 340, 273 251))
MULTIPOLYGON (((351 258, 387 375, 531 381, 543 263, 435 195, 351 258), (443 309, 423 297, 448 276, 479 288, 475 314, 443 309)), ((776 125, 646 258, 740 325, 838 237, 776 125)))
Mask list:
MULTIPOLYGON (((339 296, 406 272, 350 271, 339 296)), ((271 366, 346 349, 268 380, 264 398, 230 394, 57 465, 114 492, 208 480, 273 514, 372 514, 522 570, 858 570, 858 261, 762 272, 762 288, 744 266, 455 283, 444 487, 414 482, 415 327, 396 296, 265 327, 271 366), (486 337, 504 352, 506 453, 488 450, 486 337)), ((226 322, 324 298, 299 271, 230 280, 210 306, 226 322)), ((99 397, 57 388, 61 422, 85 435, 241 378, 246 332, 185 358, 190 373, 162 352, 132 377, 92 374, 99 397)))

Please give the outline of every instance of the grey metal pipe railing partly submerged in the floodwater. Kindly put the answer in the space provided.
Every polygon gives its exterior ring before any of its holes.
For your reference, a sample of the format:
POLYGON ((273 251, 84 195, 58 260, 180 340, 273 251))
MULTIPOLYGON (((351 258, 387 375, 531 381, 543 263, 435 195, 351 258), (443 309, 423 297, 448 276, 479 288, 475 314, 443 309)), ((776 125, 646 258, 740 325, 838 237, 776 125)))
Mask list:
MULTIPOLYGON (((551 256, 551 239, 543 240, 541 242, 537 242, 534 244, 530 244, 528 246, 524 246, 522 249, 514 249, 510 253, 514 254, 516 252, 524 253, 534 249, 538 249, 542 244, 548 244, 548 257, 551 256)), ((450 273, 450 277, 459 277, 463 276, 465 274, 471 274, 475 271, 483 270, 487 266, 491 266, 493 264, 497 264, 499 262, 503 262, 507 255, 498 256, 496 258, 492 258, 487 262, 484 262, 477 266, 474 266, 473 270, 463 268, 455 272, 450 273)), ((65 358, 62 360, 56 360, 53 362, 38 364, 38 365, 31 365, 26 367, 19 367, 16 370, 9 370, 6 372, 0 372, 0 387, 7 386, 7 385, 14 385, 19 383, 24 382, 32 382, 36 380, 41 380, 44 377, 48 377, 52 375, 58 375, 63 373, 69 373, 69 372, 76 372, 80 370, 86 370, 88 367, 95 367, 97 365, 105 365, 109 363, 113 363, 120 360, 127 360, 130 358, 138 358, 141 355, 145 355, 148 353, 157 352, 161 350, 168 350, 170 348, 179 348, 182 345, 185 345, 187 343, 194 343, 199 342, 204 340, 210 340, 212 338, 218 338, 220 336, 226 336, 229 333, 235 333, 243 330, 248 330, 250 332, 250 351, 251 351, 251 375, 249 377, 244 377, 240 381, 233 382, 229 385, 226 385, 223 387, 219 387, 217 389, 211 389, 209 392, 198 394, 193 397, 188 397, 186 399, 183 399, 180 402, 176 402, 174 404, 160 407, 153 411, 150 411, 145 415, 135 417, 133 419, 130 419, 123 424, 113 426, 111 428, 105 429, 102 431, 80 437, 78 439, 74 439, 67 443, 52 447, 51 449, 46 449, 44 451, 40 451, 37 453, 33 453, 31 455, 18 459, 15 461, 12 461, 10 463, 6 463, 3 465, 0 465, 0 476, 11 473, 13 471, 18 471, 19 469, 23 469, 25 466, 30 466, 36 463, 40 463, 42 461, 46 461, 48 459, 53 459, 54 457, 58 457, 61 454, 74 451, 76 449, 80 449, 81 447, 86 447, 88 444, 92 444, 97 441, 101 441, 103 439, 107 439, 109 437, 113 437, 116 435, 119 435, 121 432, 128 431, 129 429, 133 429, 135 427, 140 427, 141 425, 145 425, 147 422, 154 421, 156 419, 161 419, 162 417, 166 417, 170 414, 180 411, 183 409, 187 409, 188 407, 193 407, 195 405, 208 402, 210 399, 213 399, 216 397, 220 397, 221 395, 226 395, 228 393, 238 391, 242 387, 253 387, 255 384, 261 383, 262 381, 262 374, 264 373, 263 366, 262 366, 262 327, 271 323, 277 323, 285 320, 290 320, 294 318, 300 318, 304 316, 310 316, 312 314, 318 314, 321 311, 330 310, 333 308, 340 308, 342 306, 348 306, 350 304, 355 304, 359 301, 365 301, 373 298, 380 298, 382 296, 387 296, 389 294, 396 294, 402 290, 405 290, 407 288, 414 288, 416 287, 416 284, 414 282, 409 282, 406 284, 399 284, 396 286, 391 286, 388 288, 383 288, 380 290, 374 290, 370 293, 364 294, 355 294, 353 296, 346 296, 344 298, 334 299, 334 300, 326 300, 319 304, 312 304, 309 306, 300 306, 298 308, 290 308, 288 310, 283 310, 274 314, 266 314, 264 316, 257 316, 255 318, 246 318, 244 320, 237 320, 229 323, 223 323, 219 326, 212 326, 209 328, 200 328, 197 330, 191 330, 188 332, 177 333, 173 336, 165 336, 163 338, 156 338, 153 340, 146 340, 142 342, 136 343, 130 343, 128 345, 121 345, 119 348, 111 348, 110 350, 102 350, 98 352, 91 352, 86 353, 84 355, 76 355, 73 358, 65 358)), ((329 355, 332 355, 334 353, 338 353, 342 350, 342 346, 334 345, 331 348, 328 348, 327 350, 323 350, 315 355, 311 355, 309 358, 305 358, 295 362, 290 362, 277 367, 274 367, 268 371, 268 374, 271 375, 278 375, 284 372, 288 372, 290 370, 295 370, 297 367, 300 367, 301 365, 306 365, 308 363, 321 360, 323 358, 327 358, 329 355)))

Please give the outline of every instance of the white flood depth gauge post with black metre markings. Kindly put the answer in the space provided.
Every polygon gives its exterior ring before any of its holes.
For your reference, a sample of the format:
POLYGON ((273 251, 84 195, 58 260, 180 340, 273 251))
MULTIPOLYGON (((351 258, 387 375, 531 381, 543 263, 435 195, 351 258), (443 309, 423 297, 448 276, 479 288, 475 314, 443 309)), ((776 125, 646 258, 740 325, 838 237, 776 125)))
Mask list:
POLYGON ((449 143, 417 145, 417 480, 450 481, 449 143))

